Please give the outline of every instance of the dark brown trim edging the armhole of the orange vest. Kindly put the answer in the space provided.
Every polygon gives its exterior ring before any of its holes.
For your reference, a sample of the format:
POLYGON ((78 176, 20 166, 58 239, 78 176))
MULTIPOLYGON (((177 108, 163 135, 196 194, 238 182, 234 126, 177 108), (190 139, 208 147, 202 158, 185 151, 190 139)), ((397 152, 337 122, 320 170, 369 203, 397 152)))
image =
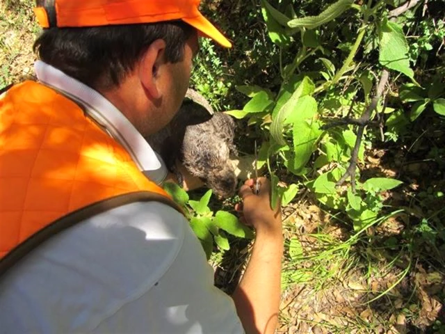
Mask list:
POLYGON ((63 232, 68 228, 84 221, 97 214, 102 214, 108 210, 122 205, 127 205, 133 202, 162 202, 169 207, 172 207, 180 214, 184 214, 184 211, 170 198, 160 195, 159 193, 153 193, 152 191, 136 191, 133 193, 125 193, 118 195, 100 202, 95 202, 91 205, 78 209, 66 216, 58 218, 56 221, 47 225, 47 227, 33 234, 33 236, 26 239, 22 244, 11 250, 5 257, 0 260, 0 278, 13 267, 19 260, 31 252, 34 248, 37 248, 44 241, 47 241, 51 237, 54 237, 59 232, 63 232))

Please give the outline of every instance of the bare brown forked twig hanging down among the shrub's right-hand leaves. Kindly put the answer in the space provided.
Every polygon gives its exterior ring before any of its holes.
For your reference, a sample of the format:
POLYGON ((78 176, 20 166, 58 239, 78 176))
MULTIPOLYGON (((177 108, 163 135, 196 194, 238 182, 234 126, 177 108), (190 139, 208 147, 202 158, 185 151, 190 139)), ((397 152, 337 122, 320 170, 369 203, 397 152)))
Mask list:
POLYGON ((385 90, 385 86, 388 82, 388 79, 389 79, 389 72, 387 70, 383 70, 382 75, 380 77, 380 81, 378 82, 377 89, 375 90, 375 95, 371 100, 371 103, 365 109, 362 116, 359 119, 357 119, 357 121, 364 123, 363 125, 359 125, 359 128, 357 130, 357 140, 355 141, 353 154, 351 154, 350 157, 348 169, 346 170, 346 173, 341 177, 339 182, 337 182, 337 186, 341 186, 346 181, 346 179, 350 177, 350 184, 353 192, 355 192, 355 168, 357 167, 357 158, 359 155, 360 145, 362 145, 364 128, 366 127, 366 122, 368 122, 369 119, 371 118, 371 113, 377 107, 378 101, 382 96, 383 90, 385 90))

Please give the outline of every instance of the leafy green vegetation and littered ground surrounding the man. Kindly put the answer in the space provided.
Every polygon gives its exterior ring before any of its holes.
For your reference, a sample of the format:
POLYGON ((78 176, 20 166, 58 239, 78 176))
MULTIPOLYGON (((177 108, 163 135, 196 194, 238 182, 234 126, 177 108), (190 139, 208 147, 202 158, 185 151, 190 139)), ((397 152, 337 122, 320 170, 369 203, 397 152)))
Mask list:
MULTIPOLYGON (((31 2, 1 5, 0 88, 31 67, 31 2)), ((282 197, 280 332, 445 333, 444 1, 203 2, 234 48, 202 40, 191 84, 282 197)), ((170 191, 230 291, 236 198, 170 191)))

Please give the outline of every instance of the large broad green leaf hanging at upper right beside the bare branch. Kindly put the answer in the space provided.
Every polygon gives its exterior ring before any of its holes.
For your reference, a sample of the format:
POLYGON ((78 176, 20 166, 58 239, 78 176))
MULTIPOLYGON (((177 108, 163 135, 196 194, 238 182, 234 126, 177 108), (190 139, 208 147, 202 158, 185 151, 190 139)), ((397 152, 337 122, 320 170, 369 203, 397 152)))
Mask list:
POLYGON ((408 45, 401 26, 387 19, 380 26, 379 62, 390 70, 395 70, 414 79, 414 71, 410 67, 408 45))

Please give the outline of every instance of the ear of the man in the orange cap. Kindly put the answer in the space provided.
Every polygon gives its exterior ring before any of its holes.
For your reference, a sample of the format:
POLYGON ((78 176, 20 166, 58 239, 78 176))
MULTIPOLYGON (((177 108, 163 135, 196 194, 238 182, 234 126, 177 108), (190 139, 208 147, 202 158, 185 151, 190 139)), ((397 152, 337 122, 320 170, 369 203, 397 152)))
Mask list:
POLYGON ((159 68, 165 62, 165 41, 155 40, 144 52, 139 67, 139 77, 145 90, 155 100, 161 97, 159 91, 159 68))

